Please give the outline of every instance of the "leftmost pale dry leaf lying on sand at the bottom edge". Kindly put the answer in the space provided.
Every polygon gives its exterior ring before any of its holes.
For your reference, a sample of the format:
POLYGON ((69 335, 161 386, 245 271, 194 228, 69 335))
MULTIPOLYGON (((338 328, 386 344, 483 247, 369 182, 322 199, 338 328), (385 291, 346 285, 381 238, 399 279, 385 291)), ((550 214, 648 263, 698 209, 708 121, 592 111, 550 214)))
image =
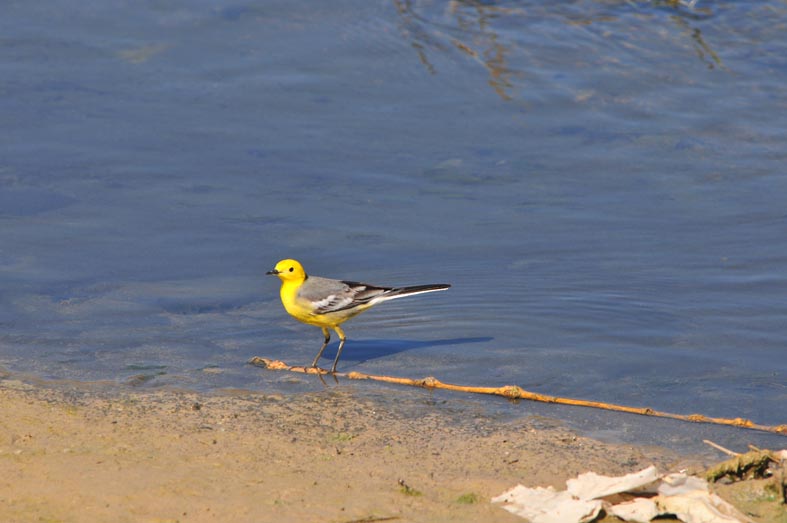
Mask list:
POLYGON ((492 498, 492 502, 506 503, 504 509, 531 523, 588 523, 598 517, 602 506, 599 500, 576 499, 565 490, 522 485, 492 498))

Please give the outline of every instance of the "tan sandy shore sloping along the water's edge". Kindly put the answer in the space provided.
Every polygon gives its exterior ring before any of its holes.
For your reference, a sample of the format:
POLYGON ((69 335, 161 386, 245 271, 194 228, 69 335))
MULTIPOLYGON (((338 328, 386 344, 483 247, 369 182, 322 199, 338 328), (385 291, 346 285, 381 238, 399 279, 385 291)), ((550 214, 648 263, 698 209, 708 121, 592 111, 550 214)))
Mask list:
POLYGON ((107 392, 6 376, 0 521, 514 522, 489 499, 517 483, 687 465, 537 419, 449 419, 359 396, 107 392))

